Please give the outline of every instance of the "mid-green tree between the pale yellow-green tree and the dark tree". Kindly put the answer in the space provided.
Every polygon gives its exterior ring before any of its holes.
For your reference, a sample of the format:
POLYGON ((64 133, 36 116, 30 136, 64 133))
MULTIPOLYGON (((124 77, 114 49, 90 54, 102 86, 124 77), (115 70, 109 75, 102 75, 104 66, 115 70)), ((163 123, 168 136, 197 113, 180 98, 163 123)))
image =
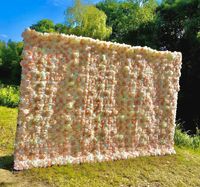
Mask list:
POLYGON ((154 20, 157 4, 154 0, 104 0, 96 6, 108 17, 113 30, 110 40, 133 44, 131 33, 154 20))

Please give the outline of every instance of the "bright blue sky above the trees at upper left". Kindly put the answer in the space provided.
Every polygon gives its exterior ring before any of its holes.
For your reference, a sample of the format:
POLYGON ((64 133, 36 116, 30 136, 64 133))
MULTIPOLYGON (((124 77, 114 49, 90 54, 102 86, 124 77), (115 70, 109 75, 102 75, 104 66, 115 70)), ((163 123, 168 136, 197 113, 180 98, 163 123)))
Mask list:
POLYGON ((64 11, 72 5, 73 0, 0 0, 0 40, 22 41, 22 32, 41 19, 64 23, 64 11))

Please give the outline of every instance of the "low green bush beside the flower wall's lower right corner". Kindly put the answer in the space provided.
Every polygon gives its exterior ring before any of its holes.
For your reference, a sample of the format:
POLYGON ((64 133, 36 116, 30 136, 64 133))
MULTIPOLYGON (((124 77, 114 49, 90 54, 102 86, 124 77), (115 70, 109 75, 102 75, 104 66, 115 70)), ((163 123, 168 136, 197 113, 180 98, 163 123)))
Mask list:
POLYGON ((200 134, 197 130, 197 134, 190 136, 187 132, 181 130, 181 126, 178 124, 175 130, 174 136, 175 145, 178 147, 188 147, 192 149, 200 149, 200 134))

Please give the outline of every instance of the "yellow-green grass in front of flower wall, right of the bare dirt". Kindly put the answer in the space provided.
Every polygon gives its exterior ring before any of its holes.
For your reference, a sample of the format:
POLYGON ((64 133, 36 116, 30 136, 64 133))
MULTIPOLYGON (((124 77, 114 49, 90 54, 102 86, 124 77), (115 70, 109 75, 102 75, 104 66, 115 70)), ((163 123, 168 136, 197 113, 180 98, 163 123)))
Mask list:
POLYGON ((114 162, 35 168, 24 172, 55 186, 200 186, 200 152, 114 162))

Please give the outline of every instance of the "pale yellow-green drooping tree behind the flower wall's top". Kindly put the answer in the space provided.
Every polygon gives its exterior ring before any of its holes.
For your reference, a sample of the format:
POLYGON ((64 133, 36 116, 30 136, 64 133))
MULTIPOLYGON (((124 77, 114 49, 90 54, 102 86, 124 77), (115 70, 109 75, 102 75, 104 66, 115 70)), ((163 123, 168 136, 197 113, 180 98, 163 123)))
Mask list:
POLYGON ((88 36, 95 39, 107 39, 112 28, 106 26, 106 14, 92 5, 84 5, 80 0, 75 0, 73 7, 65 12, 66 25, 70 33, 88 36))

